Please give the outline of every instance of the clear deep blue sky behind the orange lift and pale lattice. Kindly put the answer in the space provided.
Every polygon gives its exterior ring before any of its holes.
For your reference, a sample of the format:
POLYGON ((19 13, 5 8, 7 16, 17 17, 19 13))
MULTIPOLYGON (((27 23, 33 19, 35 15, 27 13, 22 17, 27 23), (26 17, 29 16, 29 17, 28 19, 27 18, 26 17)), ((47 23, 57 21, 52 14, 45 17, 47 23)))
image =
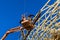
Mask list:
MULTIPOLYGON (((0 38, 7 30, 19 24, 22 14, 36 14, 47 0, 0 0, 0 38)), ((53 0, 52 0, 53 3, 53 0)), ((6 40, 18 40, 20 32, 8 35, 6 40)))

